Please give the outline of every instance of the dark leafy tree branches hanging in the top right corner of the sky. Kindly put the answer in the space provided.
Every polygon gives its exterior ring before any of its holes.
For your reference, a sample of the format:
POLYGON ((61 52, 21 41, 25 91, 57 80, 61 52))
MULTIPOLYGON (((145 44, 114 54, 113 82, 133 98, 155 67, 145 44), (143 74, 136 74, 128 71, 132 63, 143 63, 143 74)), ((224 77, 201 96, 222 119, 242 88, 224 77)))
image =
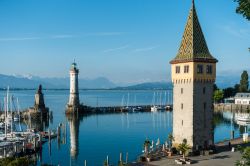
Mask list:
POLYGON ((234 0, 238 3, 236 13, 243 15, 248 21, 250 21, 250 1, 249 0, 234 0))

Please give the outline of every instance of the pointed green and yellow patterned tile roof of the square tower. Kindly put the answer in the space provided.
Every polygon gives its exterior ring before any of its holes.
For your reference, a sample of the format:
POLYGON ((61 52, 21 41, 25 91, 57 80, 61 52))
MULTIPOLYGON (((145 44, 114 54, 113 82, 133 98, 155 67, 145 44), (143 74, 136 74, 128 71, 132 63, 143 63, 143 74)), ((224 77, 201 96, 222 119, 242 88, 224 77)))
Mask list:
POLYGON ((208 50, 194 1, 189 12, 178 54, 170 63, 182 62, 217 62, 217 59, 215 59, 208 50))

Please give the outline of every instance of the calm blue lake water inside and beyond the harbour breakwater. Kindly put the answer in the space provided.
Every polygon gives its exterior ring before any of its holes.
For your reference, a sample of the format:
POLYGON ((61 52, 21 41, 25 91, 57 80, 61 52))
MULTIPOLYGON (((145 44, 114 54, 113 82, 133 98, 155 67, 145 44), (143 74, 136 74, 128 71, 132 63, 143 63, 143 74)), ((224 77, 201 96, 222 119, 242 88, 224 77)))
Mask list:
MULTIPOLYGON (((6 92, 0 91, 0 101, 6 92)), ((64 141, 58 144, 53 140, 51 147, 45 143, 38 165, 41 163, 60 165, 101 166, 106 156, 117 165, 119 153, 128 153, 128 160, 134 161, 142 152, 146 138, 163 143, 172 132, 172 112, 121 113, 91 115, 81 118, 65 116, 68 91, 46 90, 43 92, 45 104, 53 111, 53 120, 47 128, 56 129, 59 123, 66 124, 64 141), (51 153, 50 153, 51 151, 51 153)), ((19 98, 21 108, 34 104, 35 91, 12 91, 19 98)), ((81 90, 80 99, 90 106, 150 105, 155 94, 156 103, 172 103, 171 91, 119 91, 119 90, 81 90), (129 101, 129 102, 127 102, 129 101)), ((2 102, 1 102, 2 103, 2 102)), ((215 114, 215 142, 235 137, 244 132, 244 127, 231 120, 231 113, 215 114)), ((41 124, 40 124, 41 125, 41 124)))

